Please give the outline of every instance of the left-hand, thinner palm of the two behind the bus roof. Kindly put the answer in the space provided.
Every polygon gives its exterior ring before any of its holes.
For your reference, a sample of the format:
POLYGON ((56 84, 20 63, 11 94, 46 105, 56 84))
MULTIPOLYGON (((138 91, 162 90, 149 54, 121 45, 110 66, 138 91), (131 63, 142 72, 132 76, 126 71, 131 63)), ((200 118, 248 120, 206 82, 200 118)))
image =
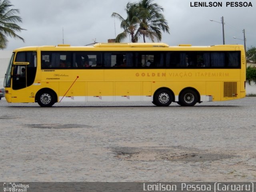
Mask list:
POLYGON ((131 36, 131 41, 138 42, 138 33, 136 30, 138 29, 138 6, 134 3, 128 3, 125 8, 127 18, 124 19, 120 14, 113 13, 111 16, 114 18, 118 18, 121 21, 120 27, 124 29, 124 32, 118 34, 116 36, 116 42, 121 42, 124 40, 128 34, 131 36))

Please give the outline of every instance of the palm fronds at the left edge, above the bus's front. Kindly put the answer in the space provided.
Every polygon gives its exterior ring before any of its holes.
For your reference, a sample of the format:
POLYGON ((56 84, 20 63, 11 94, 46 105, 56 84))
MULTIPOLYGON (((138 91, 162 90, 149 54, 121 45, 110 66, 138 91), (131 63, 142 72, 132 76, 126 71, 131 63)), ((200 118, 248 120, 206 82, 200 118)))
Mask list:
POLYGON ((16 14, 19 14, 18 9, 11 9, 13 6, 9 0, 0 0, 0 49, 6 48, 8 44, 7 37, 19 38, 24 42, 24 39, 16 34, 24 30, 16 23, 22 22, 22 19, 16 14))

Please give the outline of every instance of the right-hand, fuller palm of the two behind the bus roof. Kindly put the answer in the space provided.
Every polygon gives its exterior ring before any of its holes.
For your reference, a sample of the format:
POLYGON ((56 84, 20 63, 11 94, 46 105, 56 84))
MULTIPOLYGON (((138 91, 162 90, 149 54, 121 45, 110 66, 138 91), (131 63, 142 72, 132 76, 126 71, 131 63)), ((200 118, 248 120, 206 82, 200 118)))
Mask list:
POLYGON ((164 8, 156 3, 152 3, 152 1, 141 0, 138 3, 140 18, 139 32, 142 34, 144 42, 146 42, 145 37, 150 38, 152 42, 154 42, 155 38, 158 42, 161 41, 161 30, 170 34, 168 23, 162 14, 164 8))

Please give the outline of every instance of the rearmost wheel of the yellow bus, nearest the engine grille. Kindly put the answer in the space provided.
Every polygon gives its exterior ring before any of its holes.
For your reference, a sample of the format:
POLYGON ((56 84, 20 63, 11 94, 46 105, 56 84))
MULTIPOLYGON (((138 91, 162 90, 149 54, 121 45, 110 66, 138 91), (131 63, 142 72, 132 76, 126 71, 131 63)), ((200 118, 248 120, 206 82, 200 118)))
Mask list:
POLYGON ((198 95, 192 89, 186 89, 180 93, 178 104, 181 106, 194 106, 198 102, 198 95))

